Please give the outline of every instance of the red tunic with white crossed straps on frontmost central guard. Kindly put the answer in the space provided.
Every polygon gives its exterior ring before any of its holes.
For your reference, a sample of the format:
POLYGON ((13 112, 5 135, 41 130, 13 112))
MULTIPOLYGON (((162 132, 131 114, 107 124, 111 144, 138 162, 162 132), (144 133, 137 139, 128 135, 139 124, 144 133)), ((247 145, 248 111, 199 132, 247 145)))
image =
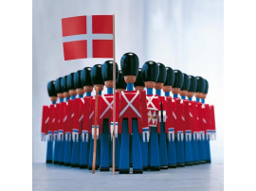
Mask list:
POLYGON ((122 91, 119 99, 119 133, 122 119, 128 119, 128 130, 132 133, 132 119, 137 118, 138 132, 148 128, 147 101, 145 91, 122 91))

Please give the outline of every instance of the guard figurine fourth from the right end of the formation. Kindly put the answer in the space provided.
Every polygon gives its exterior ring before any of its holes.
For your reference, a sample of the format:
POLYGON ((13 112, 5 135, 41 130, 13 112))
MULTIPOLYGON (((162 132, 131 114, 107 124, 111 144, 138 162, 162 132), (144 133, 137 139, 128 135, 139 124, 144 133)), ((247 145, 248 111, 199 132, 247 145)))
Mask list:
POLYGON ((184 159, 185 159, 185 165, 192 165, 192 126, 191 126, 191 118, 190 118, 190 106, 189 101, 186 100, 186 96, 188 96, 189 89, 191 86, 191 80, 189 76, 185 73, 183 73, 183 85, 181 88, 181 91, 179 95, 181 96, 181 99, 183 100, 183 128, 185 130, 185 142, 184 142, 184 159))

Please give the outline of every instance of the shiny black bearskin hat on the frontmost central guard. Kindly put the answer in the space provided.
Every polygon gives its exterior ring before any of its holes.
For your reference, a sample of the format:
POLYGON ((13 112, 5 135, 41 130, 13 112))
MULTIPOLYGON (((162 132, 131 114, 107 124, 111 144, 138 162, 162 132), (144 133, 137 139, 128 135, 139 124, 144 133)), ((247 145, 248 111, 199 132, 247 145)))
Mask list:
POLYGON ((135 53, 128 52, 121 57, 120 65, 123 77, 137 76, 138 58, 135 53))

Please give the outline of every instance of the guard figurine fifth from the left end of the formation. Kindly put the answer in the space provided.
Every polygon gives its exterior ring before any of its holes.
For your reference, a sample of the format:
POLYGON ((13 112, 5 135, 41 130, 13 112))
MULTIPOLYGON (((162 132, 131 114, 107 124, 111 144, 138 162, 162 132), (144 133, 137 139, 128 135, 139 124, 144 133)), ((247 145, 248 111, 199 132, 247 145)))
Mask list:
MULTIPOLYGON (((80 138, 82 133, 82 118, 83 118, 83 94, 82 82, 80 75, 81 70, 77 71, 73 77, 74 88, 76 90, 78 98, 73 100, 73 110, 72 110, 72 156, 71 156, 71 166, 79 167, 80 165, 80 138)), ((70 81, 71 82, 71 81, 70 81)))

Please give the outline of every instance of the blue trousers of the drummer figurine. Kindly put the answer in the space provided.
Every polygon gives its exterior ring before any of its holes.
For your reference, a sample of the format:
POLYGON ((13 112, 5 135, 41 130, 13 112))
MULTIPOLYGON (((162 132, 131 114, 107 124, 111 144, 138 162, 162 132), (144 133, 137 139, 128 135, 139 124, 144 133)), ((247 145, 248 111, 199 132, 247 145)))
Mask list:
POLYGON ((159 170, 160 158, 159 158, 158 133, 157 133, 156 127, 151 127, 149 149, 150 149, 150 168, 151 170, 159 170))

